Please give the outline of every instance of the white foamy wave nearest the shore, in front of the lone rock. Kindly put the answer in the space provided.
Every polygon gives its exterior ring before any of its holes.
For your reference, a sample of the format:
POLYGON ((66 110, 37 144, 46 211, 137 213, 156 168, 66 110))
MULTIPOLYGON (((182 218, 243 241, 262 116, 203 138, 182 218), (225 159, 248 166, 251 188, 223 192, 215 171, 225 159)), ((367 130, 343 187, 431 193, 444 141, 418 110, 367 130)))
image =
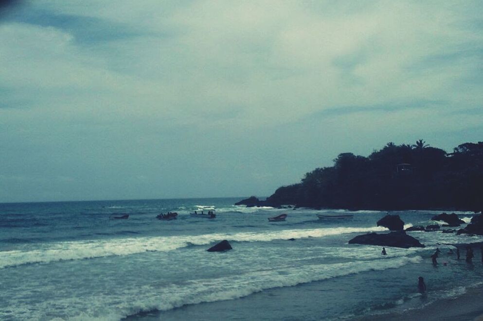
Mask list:
MULTIPOLYGON (((119 320, 142 311, 166 311, 186 304, 233 300, 275 287, 322 281, 365 271, 383 271, 420 263, 422 258, 397 257, 336 264, 314 264, 283 270, 247 270, 245 273, 210 279, 197 279, 179 284, 145 285, 117 289, 82 298, 50 299, 34 303, 28 309, 8 306, 8 311, 27 319, 45 319, 46 314, 62 313, 54 320, 119 320), (60 312, 59 312, 60 311, 60 312)), ((5 310, 4 310, 5 311, 5 310)), ((0 317, 2 313, 0 312, 0 317)), ((5 316, 5 315, 3 315, 5 316)))

